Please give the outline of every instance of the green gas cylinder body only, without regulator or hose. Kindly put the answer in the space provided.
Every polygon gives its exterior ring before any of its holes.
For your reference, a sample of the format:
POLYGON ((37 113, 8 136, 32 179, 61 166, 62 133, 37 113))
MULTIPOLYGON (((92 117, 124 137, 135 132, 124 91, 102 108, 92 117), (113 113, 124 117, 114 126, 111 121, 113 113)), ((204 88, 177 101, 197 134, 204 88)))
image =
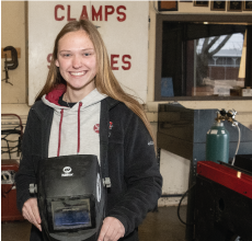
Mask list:
POLYGON ((224 123, 216 122, 206 135, 206 161, 229 160, 229 133, 224 123))

